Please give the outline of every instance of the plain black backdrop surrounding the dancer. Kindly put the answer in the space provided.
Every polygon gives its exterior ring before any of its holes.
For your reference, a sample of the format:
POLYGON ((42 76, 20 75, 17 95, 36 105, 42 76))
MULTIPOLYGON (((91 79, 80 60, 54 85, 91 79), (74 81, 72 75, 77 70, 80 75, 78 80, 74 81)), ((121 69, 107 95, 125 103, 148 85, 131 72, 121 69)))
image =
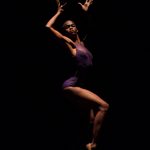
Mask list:
MULTIPOLYGON (((60 87, 70 66, 65 52, 45 29, 56 11, 55 1, 8 3, 1 31, 6 56, 3 89, 7 89, 3 139, 18 149, 83 148, 89 138, 87 112, 63 98, 60 87)), ((141 105, 139 108, 137 102, 144 99, 142 87, 147 83, 148 25, 145 18, 140 23, 140 15, 127 6, 120 1, 95 0, 90 10, 87 41, 94 55, 90 83, 110 104, 99 139, 103 150, 122 149, 132 143, 129 139, 137 132, 131 122, 139 119, 141 105), (132 128, 130 134, 128 128, 132 128)), ((80 11, 76 9, 79 6, 72 0, 64 13, 71 12, 70 16, 78 19, 80 11)))

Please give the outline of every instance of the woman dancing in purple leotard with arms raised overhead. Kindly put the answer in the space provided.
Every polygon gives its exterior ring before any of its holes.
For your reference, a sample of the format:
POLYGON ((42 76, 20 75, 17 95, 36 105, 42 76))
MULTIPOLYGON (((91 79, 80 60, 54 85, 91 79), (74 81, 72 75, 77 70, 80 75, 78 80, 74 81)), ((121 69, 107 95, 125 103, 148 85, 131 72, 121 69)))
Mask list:
MULTIPOLYGON (((84 4, 78 3, 81 8, 87 12, 89 6, 92 4, 93 0, 86 0, 84 4)), ((48 27, 51 32, 61 41, 63 41, 72 58, 76 62, 77 70, 74 72, 74 76, 70 77, 63 83, 63 91, 64 93, 70 98, 73 96, 80 101, 87 102, 90 107, 90 120, 93 122, 93 131, 92 131, 92 140, 90 143, 86 144, 86 148, 88 150, 92 150, 97 146, 97 138, 98 134, 104 119, 104 116, 109 108, 109 104, 105 102, 102 98, 100 98, 95 93, 79 87, 78 82, 80 81, 80 77, 83 77, 86 71, 92 67, 92 54, 91 52, 85 47, 83 41, 81 41, 80 36, 78 34, 78 29, 76 24, 72 20, 67 20, 63 24, 64 33, 60 33, 57 29, 53 27, 54 23, 56 22, 57 18, 62 14, 64 11, 64 6, 61 5, 58 1, 58 9, 56 14, 50 18, 47 22, 46 27, 48 27)))

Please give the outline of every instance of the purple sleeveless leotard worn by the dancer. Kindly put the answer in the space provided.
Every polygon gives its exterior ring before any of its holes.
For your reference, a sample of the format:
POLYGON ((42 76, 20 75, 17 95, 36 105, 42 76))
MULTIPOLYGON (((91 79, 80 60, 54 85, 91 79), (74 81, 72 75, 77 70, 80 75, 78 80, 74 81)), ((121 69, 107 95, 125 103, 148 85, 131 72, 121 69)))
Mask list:
POLYGON ((76 86, 80 77, 85 76, 86 71, 93 65, 93 56, 83 43, 76 44, 76 50, 77 52, 74 58, 77 70, 75 71, 74 76, 64 81, 62 88, 76 86))

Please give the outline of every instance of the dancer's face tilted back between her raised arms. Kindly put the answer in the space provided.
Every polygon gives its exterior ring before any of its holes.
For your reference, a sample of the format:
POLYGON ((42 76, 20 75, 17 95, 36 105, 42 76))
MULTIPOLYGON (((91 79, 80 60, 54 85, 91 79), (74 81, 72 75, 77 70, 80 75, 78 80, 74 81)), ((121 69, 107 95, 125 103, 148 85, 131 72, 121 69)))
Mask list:
POLYGON ((69 34, 76 35, 78 33, 78 29, 77 29, 75 23, 71 20, 67 20, 63 24, 63 28, 69 34))

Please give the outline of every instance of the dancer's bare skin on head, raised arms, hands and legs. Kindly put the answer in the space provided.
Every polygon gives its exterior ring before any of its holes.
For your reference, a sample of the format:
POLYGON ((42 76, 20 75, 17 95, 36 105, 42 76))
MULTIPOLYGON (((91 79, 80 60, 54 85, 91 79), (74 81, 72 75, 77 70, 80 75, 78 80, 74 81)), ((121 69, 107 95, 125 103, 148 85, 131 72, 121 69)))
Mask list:
MULTIPOLYGON (((87 12, 92 3, 93 0, 86 0, 84 4, 80 2, 78 4, 85 12, 87 12)), ((46 27, 48 27, 58 39, 60 39, 66 44, 68 50, 70 51, 71 56, 76 57, 75 44, 83 43, 83 42, 80 39, 77 26, 72 20, 67 20, 63 24, 63 28, 66 32, 65 35, 60 33, 57 29, 53 27, 57 18, 63 13, 64 11, 63 8, 66 5, 66 3, 61 5, 58 0, 57 0, 57 4, 58 4, 57 12, 54 14, 52 18, 49 19, 49 21, 46 24, 46 27)), ((90 122, 93 123, 93 137, 92 137, 92 141, 86 144, 86 148, 88 150, 92 150, 96 148, 97 138, 102 126, 103 119, 109 108, 109 104, 105 100, 103 100, 100 96, 93 93, 92 91, 89 91, 87 89, 78 86, 66 87, 64 88, 64 93, 69 93, 69 98, 74 97, 76 99, 79 99, 80 101, 87 102, 86 104, 90 108, 90 122), (94 111, 94 106, 97 106, 98 108, 96 112, 94 111)))

